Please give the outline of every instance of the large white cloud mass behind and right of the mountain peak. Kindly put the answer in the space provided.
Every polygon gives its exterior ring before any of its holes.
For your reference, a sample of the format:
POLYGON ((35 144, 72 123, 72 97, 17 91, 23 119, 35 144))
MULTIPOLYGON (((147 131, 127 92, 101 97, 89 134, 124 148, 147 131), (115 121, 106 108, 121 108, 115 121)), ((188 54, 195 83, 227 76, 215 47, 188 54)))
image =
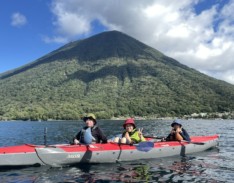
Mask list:
POLYGON ((234 84, 234 0, 224 7, 217 1, 196 14, 194 5, 200 1, 54 0, 51 9, 57 34, 64 40, 87 37, 94 30, 93 22, 99 21, 107 30, 122 31, 185 65, 234 84))

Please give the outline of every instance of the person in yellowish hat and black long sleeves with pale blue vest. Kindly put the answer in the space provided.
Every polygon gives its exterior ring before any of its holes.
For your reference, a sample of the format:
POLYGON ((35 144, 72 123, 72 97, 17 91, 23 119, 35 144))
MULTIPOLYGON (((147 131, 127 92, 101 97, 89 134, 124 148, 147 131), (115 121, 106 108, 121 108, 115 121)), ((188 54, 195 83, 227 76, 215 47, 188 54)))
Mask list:
POLYGON ((73 138, 74 144, 107 143, 106 136, 97 126, 94 114, 87 114, 83 120, 86 123, 86 126, 73 138))

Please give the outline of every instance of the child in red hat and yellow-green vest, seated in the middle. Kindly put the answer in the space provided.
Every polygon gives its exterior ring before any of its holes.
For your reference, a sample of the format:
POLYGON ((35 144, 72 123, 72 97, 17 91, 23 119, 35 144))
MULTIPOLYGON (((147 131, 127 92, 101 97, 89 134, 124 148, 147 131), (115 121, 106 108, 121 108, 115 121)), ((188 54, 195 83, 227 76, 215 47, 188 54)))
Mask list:
POLYGON ((129 118, 126 119, 123 127, 125 131, 122 134, 122 137, 116 137, 114 139, 115 143, 121 143, 121 144, 135 144, 139 142, 145 141, 145 138, 143 137, 142 130, 143 129, 136 129, 136 125, 134 122, 134 119, 129 118))

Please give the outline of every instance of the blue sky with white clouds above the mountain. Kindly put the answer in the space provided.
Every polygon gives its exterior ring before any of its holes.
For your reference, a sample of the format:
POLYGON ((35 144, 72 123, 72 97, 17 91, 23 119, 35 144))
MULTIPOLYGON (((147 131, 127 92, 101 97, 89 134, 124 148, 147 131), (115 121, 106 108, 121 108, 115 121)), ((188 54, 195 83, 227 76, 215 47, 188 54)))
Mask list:
POLYGON ((233 10, 234 0, 5 0, 0 73, 70 41, 118 30, 234 84, 233 10))

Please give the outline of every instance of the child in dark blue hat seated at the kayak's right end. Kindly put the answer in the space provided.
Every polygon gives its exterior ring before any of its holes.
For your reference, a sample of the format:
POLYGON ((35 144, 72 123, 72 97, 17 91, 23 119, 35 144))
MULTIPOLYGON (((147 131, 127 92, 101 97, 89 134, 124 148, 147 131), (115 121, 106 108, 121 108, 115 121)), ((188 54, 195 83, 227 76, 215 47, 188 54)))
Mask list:
POLYGON ((171 124, 171 133, 167 136, 166 141, 191 141, 187 131, 182 128, 182 124, 178 119, 174 120, 171 124))

